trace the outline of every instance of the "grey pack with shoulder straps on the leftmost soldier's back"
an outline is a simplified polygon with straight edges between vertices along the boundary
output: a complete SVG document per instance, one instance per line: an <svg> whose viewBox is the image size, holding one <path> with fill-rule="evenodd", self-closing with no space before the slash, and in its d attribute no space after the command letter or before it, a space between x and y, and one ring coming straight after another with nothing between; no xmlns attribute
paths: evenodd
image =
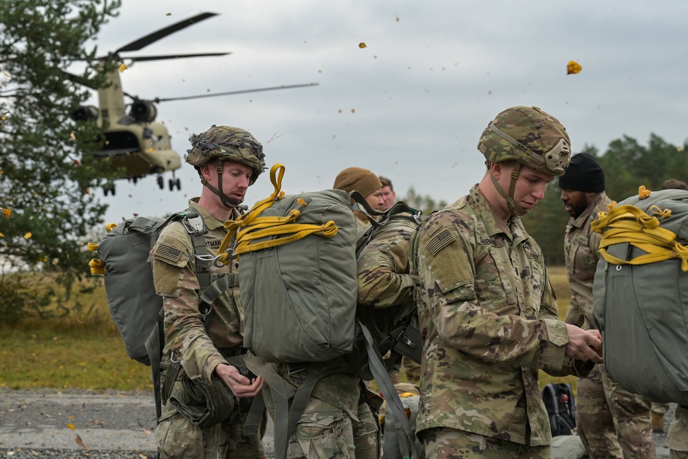
<svg viewBox="0 0 688 459"><path fill-rule="evenodd" d="M195 209L186 209L167 219L135 217L119 225L108 224L107 234L98 244L88 244L88 249L98 253L98 259L89 263L91 273L104 275L105 295L110 315L125 343L127 355L144 365L151 366L155 406L161 413L160 359L164 348L162 332L162 297L155 292L150 251L155 246L162 229L171 222L181 222L191 237L196 255L197 279L204 325L209 325L210 305L217 296L230 287L229 277L211 281L209 257L205 239L206 227Z"/></svg>

